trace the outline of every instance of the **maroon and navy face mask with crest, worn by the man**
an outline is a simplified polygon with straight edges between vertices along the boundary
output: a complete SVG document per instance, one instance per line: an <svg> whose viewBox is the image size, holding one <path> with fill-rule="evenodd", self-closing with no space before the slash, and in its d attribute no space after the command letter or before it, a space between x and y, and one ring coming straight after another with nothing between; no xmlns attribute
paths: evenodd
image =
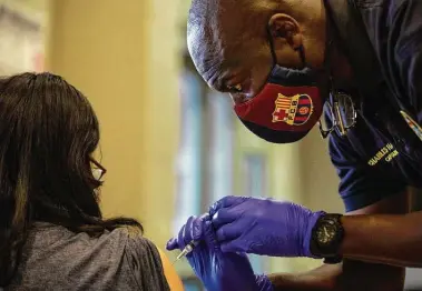
<svg viewBox="0 0 422 291"><path fill-rule="evenodd" d="M323 100L312 70L274 66L263 90L236 104L242 122L269 142L287 143L304 138L323 112Z"/></svg>

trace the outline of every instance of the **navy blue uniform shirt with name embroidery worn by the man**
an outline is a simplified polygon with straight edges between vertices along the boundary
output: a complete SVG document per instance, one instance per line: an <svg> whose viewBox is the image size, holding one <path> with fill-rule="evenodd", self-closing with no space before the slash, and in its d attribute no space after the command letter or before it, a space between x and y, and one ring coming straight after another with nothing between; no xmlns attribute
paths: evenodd
<svg viewBox="0 0 422 291"><path fill-rule="evenodd" d="M357 123L347 137L330 138L346 211L422 188L422 142L393 104L422 124L422 0L354 1L382 73L376 96L355 98Z"/></svg>

